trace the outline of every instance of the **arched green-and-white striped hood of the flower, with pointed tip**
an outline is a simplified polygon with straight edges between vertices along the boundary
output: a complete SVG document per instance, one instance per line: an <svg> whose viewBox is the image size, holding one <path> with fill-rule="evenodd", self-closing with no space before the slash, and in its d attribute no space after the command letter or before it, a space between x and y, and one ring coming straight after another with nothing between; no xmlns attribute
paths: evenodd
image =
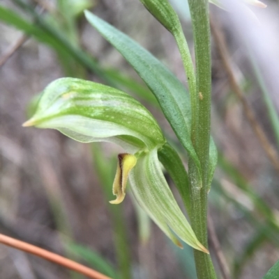
<svg viewBox="0 0 279 279"><path fill-rule="evenodd" d="M58 129L76 141L111 141L130 150L165 143L162 131L140 102L121 90L82 79L62 78L43 91L24 126Z"/></svg>

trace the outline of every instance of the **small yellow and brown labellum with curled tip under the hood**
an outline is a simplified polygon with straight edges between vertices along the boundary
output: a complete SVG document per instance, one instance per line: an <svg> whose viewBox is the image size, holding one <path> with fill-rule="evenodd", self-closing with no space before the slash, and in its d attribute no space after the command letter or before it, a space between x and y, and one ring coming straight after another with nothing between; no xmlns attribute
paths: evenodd
<svg viewBox="0 0 279 279"><path fill-rule="evenodd" d="M118 164L112 193L116 196L115 200L111 200L112 204L119 204L125 198L126 184L130 170L137 163L137 158L133 154L123 153L118 155Z"/></svg>

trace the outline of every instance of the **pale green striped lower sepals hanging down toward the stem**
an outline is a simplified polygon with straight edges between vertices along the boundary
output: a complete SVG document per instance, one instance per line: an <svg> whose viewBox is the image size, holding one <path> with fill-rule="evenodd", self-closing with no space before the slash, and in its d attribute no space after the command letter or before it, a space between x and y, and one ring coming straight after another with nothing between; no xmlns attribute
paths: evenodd
<svg viewBox="0 0 279 279"><path fill-rule="evenodd" d="M156 149L137 159L130 171L130 185L137 202L174 244L182 247L172 232L193 248L208 253L177 205L160 168Z"/></svg>

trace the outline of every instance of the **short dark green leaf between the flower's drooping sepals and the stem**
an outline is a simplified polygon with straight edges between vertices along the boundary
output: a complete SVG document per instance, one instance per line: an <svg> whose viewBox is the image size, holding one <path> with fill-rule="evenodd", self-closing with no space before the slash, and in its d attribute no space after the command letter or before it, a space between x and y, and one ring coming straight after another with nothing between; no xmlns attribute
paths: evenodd
<svg viewBox="0 0 279 279"><path fill-rule="evenodd" d="M174 181L174 184L176 185L184 202L188 216L190 216L191 204L188 174L183 166L179 154L177 154L171 145L166 143L162 148L160 148L160 150L158 150L158 158L169 175L172 177L172 180Z"/></svg>

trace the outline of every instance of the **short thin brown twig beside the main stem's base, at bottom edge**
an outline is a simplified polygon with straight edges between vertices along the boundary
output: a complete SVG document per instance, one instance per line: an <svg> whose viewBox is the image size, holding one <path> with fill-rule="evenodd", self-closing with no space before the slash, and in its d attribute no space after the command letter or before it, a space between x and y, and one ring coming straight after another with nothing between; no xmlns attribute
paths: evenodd
<svg viewBox="0 0 279 279"><path fill-rule="evenodd" d="M225 256L220 248L220 243L218 241L216 231L214 229L213 221L211 216L209 215L207 218L207 228L209 230L209 239L212 244L212 248L216 254L216 260L218 262L218 265L220 267L220 271L222 273L222 276L224 279L229 279L229 266L227 265L227 261L225 259Z"/></svg>

